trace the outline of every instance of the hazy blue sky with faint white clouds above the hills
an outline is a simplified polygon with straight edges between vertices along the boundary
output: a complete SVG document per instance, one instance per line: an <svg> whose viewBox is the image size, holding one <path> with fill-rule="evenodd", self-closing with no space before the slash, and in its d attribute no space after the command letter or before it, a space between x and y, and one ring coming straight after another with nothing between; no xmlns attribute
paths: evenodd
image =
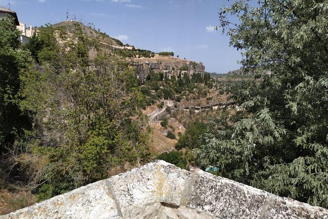
<svg viewBox="0 0 328 219"><path fill-rule="evenodd" d="M227 0L0 0L20 22L35 27L76 18L141 49L174 52L202 62L207 72L239 69L240 52L214 27Z"/></svg>

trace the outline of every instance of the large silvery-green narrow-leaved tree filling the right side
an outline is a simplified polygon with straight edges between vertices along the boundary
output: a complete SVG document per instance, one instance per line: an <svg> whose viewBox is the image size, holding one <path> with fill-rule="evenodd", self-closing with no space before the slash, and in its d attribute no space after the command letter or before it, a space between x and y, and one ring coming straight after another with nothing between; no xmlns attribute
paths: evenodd
<svg viewBox="0 0 328 219"><path fill-rule="evenodd" d="M327 1L295 0L238 0L221 10L220 27L253 81L230 93L243 110L210 126L199 164L328 207L327 13Z"/></svg>

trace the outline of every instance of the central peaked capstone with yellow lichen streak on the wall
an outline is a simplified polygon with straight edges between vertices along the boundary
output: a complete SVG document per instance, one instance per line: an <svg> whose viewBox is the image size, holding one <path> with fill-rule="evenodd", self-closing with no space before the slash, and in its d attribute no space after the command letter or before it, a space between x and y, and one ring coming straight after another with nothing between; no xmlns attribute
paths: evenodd
<svg viewBox="0 0 328 219"><path fill-rule="evenodd" d="M123 216L129 218L129 206L143 209L145 204L165 202L180 205L181 194L192 173L166 162L151 163L108 179Z"/></svg>

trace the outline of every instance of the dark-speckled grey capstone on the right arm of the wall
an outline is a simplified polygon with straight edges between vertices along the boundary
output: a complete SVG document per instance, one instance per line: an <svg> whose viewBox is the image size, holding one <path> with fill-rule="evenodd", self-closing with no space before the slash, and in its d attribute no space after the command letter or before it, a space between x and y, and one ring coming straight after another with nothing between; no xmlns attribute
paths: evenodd
<svg viewBox="0 0 328 219"><path fill-rule="evenodd" d="M326 219L328 210L199 171L195 174L190 208L227 219Z"/></svg>

